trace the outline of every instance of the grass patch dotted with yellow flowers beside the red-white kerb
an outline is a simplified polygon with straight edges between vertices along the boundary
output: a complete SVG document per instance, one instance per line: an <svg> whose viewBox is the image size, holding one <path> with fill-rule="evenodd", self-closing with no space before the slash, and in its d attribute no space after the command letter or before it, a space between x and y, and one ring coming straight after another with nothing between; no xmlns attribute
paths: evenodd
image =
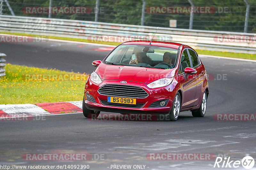
<svg viewBox="0 0 256 170"><path fill-rule="evenodd" d="M0 78L0 104L23 104L43 102L80 101L84 96L84 85L88 75L65 72L56 69L36 68L7 64L6 75ZM26 79L27 74L27 79ZM33 79L32 75L80 75L80 81L62 81ZM29 76L28 76L29 75ZM60 78L60 79L59 79ZM67 76L64 77L69 79ZM32 81L31 81L32 80ZM58 81L56 81L58 80ZM73 79L74 80L74 79Z"/></svg>

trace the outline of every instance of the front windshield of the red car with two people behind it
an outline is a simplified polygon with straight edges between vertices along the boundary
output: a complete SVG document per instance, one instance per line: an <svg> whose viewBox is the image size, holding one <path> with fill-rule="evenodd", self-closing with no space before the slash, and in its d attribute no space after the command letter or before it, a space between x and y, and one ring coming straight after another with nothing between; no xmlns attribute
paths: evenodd
<svg viewBox="0 0 256 170"><path fill-rule="evenodd" d="M149 45L120 45L105 60L106 64L132 67L174 68L178 50Z"/></svg>

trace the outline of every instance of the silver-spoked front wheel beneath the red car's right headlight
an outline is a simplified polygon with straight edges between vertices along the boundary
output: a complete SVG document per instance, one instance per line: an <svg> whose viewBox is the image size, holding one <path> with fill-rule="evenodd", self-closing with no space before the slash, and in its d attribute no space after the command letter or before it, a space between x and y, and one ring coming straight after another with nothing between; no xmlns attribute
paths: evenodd
<svg viewBox="0 0 256 170"><path fill-rule="evenodd" d="M181 99L180 99L180 93L176 93L173 102L172 102L172 109L167 116L168 120L170 121L176 121L180 114L180 105L181 105Z"/></svg>

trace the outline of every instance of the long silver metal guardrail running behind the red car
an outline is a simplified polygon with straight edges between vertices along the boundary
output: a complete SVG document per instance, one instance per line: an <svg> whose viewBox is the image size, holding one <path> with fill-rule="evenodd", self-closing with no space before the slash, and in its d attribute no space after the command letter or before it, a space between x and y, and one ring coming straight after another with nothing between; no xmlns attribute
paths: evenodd
<svg viewBox="0 0 256 170"><path fill-rule="evenodd" d="M153 36L156 27L92 21L0 15L0 31L88 39L89 36ZM227 36L229 41L216 41ZM160 27L154 39L186 44L195 49L256 54L256 34Z"/></svg>

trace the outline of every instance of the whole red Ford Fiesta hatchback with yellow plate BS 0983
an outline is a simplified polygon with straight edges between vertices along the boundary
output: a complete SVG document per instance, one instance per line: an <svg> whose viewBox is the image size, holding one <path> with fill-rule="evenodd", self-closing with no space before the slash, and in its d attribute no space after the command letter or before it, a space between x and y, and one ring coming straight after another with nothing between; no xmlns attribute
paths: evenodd
<svg viewBox="0 0 256 170"><path fill-rule="evenodd" d="M204 117L209 88L204 65L189 46L163 41L128 41L116 46L85 84L83 113L162 114L181 111Z"/></svg>

